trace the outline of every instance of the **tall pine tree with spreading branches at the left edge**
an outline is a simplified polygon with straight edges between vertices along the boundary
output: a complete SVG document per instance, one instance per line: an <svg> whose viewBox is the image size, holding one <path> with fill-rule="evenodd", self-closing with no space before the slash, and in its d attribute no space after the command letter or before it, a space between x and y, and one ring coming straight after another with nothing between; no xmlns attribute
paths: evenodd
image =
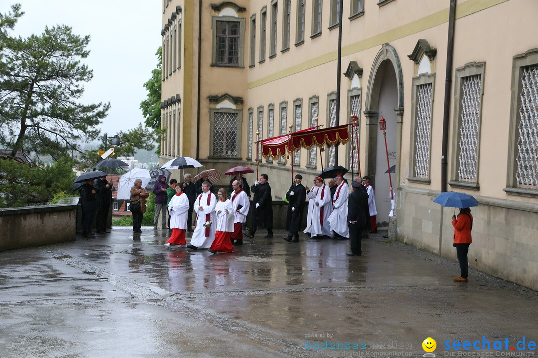
<svg viewBox="0 0 538 358"><path fill-rule="evenodd" d="M0 147L51 155L79 151L76 143L94 140L95 126L110 104L84 105L79 99L92 70L81 63L89 36L69 26L45 27L41 35L11 36L24 13L13 5L0 14Z"/></svg>

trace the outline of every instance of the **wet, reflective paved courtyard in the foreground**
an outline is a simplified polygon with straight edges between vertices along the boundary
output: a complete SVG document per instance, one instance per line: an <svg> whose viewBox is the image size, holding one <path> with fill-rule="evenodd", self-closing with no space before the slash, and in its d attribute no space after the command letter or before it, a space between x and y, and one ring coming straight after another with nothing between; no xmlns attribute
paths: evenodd
<svg viewBox="0 0 538 358"><path fill-rule="evenodd" d="M457 262L381 233L360 257L349 240L275 234L211 254L166 249L168 230L115 227L0 252L0 356L422 356L427 337L439 356L447 340L538 340L535 291L473 269L455 283Z"/></svg>

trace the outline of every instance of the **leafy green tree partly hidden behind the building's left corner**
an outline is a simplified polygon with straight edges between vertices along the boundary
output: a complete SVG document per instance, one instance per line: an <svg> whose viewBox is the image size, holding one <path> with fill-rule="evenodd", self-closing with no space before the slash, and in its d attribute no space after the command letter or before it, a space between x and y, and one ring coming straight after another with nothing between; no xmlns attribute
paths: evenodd
<svg viewBox="0 0 538 358"><path fill-rule="evenodd" d="M151 71L151 78L144 83L144 87L147 90L147 98L140 103L140 109L142 114L146 118L146 126L154 130L157 137L158 148L155 151L157 154L161 152L161 136L163 131L161 130L161 93L162 93L162 47L157 50L157 67Z"/></svg>

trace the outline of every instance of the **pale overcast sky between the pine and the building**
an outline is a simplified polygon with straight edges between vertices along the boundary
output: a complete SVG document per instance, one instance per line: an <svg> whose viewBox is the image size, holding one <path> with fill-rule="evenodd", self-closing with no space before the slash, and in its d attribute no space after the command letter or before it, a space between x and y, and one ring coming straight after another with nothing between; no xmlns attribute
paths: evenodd
<svg viewBox="0 0 538 358"><path fill-rule="evenodd" d="M1 0L0 12L20 3L24 16L15 34L41 34L45 26L68 25L77 35L90 35L85 60L94 78L84 86L83 103L110 102L101 132L114 135L144 122L140 101L143 84L157 65L161 46L162 2L159 0Z"/></svg>

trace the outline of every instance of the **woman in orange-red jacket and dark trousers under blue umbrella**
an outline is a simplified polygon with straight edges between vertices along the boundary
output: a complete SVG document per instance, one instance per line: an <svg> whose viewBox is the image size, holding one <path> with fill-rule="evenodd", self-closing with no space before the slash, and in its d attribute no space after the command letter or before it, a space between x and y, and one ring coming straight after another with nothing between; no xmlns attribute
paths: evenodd
<svg viewBox="0 0 538 358"><path fill-rule="evenodd" d="M456 246L456 252L458 255L459 268L461 269L461 276L456 277L456 282L467 282L467 273L469 267L469 261L467 259L467 253L469 252L469 245L471 245L471 230L472 230L472 215L471 209L463 208L459 209L459 214L452 216L452 226L454 227L454 246Z"/></svg>

